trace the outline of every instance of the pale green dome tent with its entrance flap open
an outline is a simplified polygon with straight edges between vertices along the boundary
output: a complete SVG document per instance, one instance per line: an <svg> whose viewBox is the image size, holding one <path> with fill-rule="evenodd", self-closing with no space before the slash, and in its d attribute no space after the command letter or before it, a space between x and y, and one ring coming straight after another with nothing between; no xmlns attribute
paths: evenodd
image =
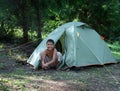
<svg viewBox="0 0 120 91"><path fill-rule="evenodd" d="M117 61L100 35L89 25L82 22L69 22L51 32L34 50L27 62L36 69L40 65L40 53L46 49L46 41L60 40L63 64L68 67L103 65Z"/></svg>

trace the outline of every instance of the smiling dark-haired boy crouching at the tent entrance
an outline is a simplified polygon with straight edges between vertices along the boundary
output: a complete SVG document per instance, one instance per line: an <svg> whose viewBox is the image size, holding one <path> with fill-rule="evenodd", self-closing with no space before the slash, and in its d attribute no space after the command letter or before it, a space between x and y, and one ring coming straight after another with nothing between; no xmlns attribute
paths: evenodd
<svg viewBox="0 0 120 91"><path fill-rule="evenodd" d="M43 69L58 68L62 61L62 55L54 47L54 40L48 39L47 49L41 53L41 64Z"/></svg>

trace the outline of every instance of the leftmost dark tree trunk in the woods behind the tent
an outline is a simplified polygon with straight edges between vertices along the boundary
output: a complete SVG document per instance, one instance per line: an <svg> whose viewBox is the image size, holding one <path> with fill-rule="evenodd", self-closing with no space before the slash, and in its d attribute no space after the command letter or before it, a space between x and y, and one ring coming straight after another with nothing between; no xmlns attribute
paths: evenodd
<svg viewBox="0 0 120 91"><path fill-rule="evenodd" d="M18 20L18 25L22 27L23 29L23 41L28 41L28 0L13 0L14 4L16 5L14 9L14 15Z"/></svg>

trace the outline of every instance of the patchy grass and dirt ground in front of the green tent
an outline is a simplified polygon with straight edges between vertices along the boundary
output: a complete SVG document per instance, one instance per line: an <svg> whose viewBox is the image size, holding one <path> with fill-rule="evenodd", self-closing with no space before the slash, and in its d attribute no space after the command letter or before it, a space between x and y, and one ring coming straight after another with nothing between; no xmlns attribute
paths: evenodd
<svg viewBox="0 0 120 91"><path fill-rule="evenodd" d="M0 53L0 91L120 91L120 63L71 71L37 70Z"/></svg>

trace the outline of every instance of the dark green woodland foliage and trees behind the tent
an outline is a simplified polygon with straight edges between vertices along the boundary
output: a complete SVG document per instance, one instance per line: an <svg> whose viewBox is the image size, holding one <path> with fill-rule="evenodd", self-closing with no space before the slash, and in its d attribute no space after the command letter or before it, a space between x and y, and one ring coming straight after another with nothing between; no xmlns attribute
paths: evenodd
<svg viewBox="0 0 120 91"><path fill-rule="evenodd" d="M119 0L1 0L0 41L41 40L71 21L85 22L107 40L120 41L119 16ZM19 29L22 36L17 39Z"/></svg>

